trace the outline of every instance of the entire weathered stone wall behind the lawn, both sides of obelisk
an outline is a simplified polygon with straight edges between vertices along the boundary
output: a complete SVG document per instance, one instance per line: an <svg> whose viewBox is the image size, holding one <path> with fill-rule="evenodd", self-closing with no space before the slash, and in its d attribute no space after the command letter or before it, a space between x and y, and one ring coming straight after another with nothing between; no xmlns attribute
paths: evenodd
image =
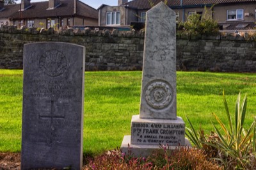
<svg viewBox="0 0 256 170"><path fill-rule="evenodd" d="M256 72L256 42L252 35L177 35L177 70ZM68 42L86 47L86 70L141 70L142 31L89 28L36 31L1 27L0 68L22 68L25 43Z"/></svg>

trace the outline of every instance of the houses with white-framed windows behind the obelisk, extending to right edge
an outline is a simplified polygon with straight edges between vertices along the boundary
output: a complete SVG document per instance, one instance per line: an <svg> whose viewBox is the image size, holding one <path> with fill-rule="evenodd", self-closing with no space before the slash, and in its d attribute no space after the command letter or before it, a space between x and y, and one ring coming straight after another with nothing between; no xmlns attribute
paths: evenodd
<svg viewBox="0 0 256 170"><path fill-rule="evenodd" d="M129 26L131 22L145 22L147 10L163 0L118 0L118 6L102 4L98 8L99 26ZM152 4L150 4L150 2ZM189 15L204 15L205 6L212 10L212 18L223 29L252 29L256 22L256 0L168 0L176 12L177 22L184 22Z"/></svg>

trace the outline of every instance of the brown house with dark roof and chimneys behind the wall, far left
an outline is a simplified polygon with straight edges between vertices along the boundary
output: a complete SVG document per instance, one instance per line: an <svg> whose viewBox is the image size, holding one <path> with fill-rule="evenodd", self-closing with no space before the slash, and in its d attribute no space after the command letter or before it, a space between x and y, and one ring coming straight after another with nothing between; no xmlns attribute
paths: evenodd
<svg viewBox="0 0 256 170"><path fill-rule="evenodd" d="M97 26L97 10L79 0L49 0L4 5L0 1L0 23L27 27Z"/></svg>

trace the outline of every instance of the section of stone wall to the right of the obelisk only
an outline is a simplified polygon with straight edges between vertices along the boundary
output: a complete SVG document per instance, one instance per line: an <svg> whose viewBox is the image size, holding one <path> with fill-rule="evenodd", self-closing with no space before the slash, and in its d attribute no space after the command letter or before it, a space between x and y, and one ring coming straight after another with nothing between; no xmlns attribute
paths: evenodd
<svg viewBox="0 0 256 170"><path fill-rule="evenodd" d="M247 40L246 40L247 38ZM177 70L256 72L256 42L239 35L177 40Z"/></svg>

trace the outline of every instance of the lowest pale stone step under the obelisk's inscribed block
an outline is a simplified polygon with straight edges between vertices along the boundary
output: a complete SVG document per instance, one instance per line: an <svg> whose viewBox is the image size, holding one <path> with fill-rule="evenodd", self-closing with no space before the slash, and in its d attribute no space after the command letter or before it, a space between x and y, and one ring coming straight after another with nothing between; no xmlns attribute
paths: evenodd
<svg viewBox="0 0 256 170"><path fill-rule="evenodd" d="M168 146L169 150L175 150L180 147L192 147L191 143L188 139L185 139L184 146ZM131 144L131 135L125 135L122 145L121 145L122 153L129 153L131 151L131 155L133 157L148 157L153 151L163 150L159 145L152 144ZM164 150L163 150L164 151Z"/></svg>

